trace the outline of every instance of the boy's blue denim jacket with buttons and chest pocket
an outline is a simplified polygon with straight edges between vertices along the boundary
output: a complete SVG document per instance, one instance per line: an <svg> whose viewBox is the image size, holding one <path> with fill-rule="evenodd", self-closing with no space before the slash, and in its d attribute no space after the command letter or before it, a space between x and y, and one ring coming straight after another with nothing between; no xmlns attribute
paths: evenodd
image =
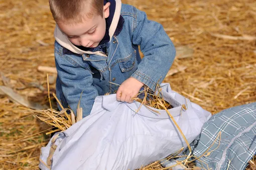
<svg viewBox="0 0 256 170"><path fill-rule="evenodd" d="M97 96L113 93L118 89L115 84L129 77L155 90L175 58L174 45L161 24L148 20L144 12L130 5L121 4L119 16L124 19L122 30L111 36L106 54L75 53L60 41L55 42L56 95L64 107L69 105L74 112L81 95L83 117L90 114Z"/></svg>

